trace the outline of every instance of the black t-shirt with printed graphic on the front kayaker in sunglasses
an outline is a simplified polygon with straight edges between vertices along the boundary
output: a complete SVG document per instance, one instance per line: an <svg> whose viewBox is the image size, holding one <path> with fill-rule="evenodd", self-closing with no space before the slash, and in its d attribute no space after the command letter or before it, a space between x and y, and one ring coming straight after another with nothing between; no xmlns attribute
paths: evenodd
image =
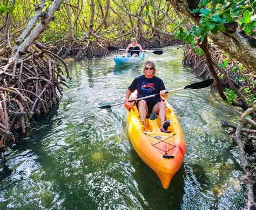
<svg viewBox="0 0 256 210"><path fill-rule="evenodd" d="M148 95L157 94L160 90L165 90L164 82L157 76L153 76L153 78L146 78L145 75L140 75L135 78L131 85L128 87L131 92L137 89L138 98L145 97ZM150 97L149 99L145 99L147 104L156 104L160 101L160 95L156 97Z"/></svg>

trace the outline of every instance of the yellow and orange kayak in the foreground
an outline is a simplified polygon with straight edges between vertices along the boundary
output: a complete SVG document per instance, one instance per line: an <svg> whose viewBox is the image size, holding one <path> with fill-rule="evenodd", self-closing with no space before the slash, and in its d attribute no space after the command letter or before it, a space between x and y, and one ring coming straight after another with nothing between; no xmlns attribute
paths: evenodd
<svg viewBox="0 0 256 210"><path fill-rule="evenodd" d="M136 95L132 93L130 99ZM136 106L127 111L127 131L133 148L139 157L156 172L165 189L170 185L174 174L183 163L186 150L184 133L170 104L166 103L166 119L171 120L167 132L160 131L160 119L155 120L147 116L146 126L150 131L144 131L140 122L139 112Z"/></svg>

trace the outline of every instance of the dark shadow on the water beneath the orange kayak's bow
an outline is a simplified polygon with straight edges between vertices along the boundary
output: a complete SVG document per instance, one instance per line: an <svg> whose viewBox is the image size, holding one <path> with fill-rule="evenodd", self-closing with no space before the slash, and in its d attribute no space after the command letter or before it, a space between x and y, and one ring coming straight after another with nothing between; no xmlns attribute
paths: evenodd
<svg viewBox="0 0 256 210"><path fill-rule="evenodd" d="M169 188L161 185L157 174L147 166L137 155L131 146L130 162L135 172L133 178L137 181L139 191L144 195L147 204L143 208L151 207L153 209L180 209L184 195L184 165L174 175Z"/></svg>

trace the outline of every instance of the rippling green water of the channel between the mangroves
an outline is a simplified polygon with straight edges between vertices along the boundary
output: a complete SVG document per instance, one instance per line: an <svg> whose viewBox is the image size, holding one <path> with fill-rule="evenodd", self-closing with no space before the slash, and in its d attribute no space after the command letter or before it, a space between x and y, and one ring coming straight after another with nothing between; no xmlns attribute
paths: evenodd
<svg viewBox="0 0 256 210"><path fill-rule="evenodd" d="M146 53L168 90L201 81L183 52ZM143 62L114 68L113 56L69 64L72 82L59 107L35 118L0 164L0 209L242 209L245 188L223 121L235 118L214 89L169 96L186 136L184 164L164 190L133 150L122 102ZM144 60L144 61L145 61Z"/></svg>

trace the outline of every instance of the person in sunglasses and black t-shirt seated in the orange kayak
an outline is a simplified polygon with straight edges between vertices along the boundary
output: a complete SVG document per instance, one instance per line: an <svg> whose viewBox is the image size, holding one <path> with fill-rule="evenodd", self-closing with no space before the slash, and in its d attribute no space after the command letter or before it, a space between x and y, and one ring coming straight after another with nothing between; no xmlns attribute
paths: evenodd
<svg viewBox="0 0 256 210"><path fill-rule="evenodd" d="M152 61L146 61L143 72L144 74L137 76L126 90L124 103L129 101L131 93L133 93L136 89L138 91L137 98L154 95L157 93L160 93L161 96L165 95L166 90L163 80L155 76L156 65L154 65ZM136 106L139 110L140 120L142 121L145 130L147 130L145 122L147 114L159 113L159 118L161 121L160 129L161 131L165 131L163 124L166 116L166 104L165 102L161 101L159 95L156 97L150 97L149 99L137 101Z"/></svg>

